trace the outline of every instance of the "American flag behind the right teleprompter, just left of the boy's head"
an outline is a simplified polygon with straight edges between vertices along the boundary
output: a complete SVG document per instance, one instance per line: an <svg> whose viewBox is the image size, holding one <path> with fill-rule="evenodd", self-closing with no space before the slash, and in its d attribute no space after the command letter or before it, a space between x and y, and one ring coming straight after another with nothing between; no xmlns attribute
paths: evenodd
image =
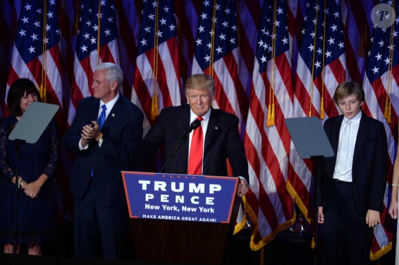
<svg viewBox="0 0 399 265"><path fill-rule="evenodd" d="M298 16L297 16L298 17ZM346 80L345 43L339 1L309 1L303 28L296 35L299 54L296 61L294 117L321 119L338 115L332 99L337 85ZM304 161L294 148L290 152L293 197L308 221L314 215L313 162Z"/></svg>

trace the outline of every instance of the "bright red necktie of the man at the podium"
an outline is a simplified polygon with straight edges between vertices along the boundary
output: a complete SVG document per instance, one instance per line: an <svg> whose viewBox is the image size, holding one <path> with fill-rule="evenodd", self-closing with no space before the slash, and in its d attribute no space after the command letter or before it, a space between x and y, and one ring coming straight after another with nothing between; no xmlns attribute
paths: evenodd
<svg viewBox="0 0 399 265"><path fill-rule="evenodd" d="M204 120L203 117L197 117L199 121ZM202 173L202 152L203 152L204 134L200 125L193 132L191 137L190 155L188 156L187 174L200 175Z"/></svg>

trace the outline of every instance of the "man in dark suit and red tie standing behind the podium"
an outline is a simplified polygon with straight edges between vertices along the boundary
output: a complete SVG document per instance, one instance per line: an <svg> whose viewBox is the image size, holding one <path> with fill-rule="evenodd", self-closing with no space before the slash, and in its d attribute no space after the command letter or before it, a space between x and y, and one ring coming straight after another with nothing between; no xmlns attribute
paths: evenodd
<svg viewBox="0 0 399 265"><path fill-rule="evenodd" d="M212 108L215 98L215 86L211 76L196 74L186 80L185 94L188 104L162 109L158 121L149 130L140 148L143 165L151 161L155 152L164 144L164 163L171 157L176 146L182 141L182 146L175 156L164 165L163 172L173 174L204 174L209 176L228 176L227 161L233 170L233 176L239 176L237 195L242 196L248 191L248 161L244 144L238 133L239 119L219 109ZM182 135L197 118L201 117L200 126L188 134ZM189 154L198 152L191 150L193 134L196 130L203 131L202 163L199 171L190 172Z"/></svg>

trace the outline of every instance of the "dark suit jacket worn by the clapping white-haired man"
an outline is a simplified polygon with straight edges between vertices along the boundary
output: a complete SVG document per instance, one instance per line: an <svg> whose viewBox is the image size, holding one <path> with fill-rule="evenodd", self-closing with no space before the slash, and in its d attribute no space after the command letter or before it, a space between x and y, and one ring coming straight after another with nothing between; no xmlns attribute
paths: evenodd
<svg viewBox="0 0 399 265"><path fill-rule="evenodd" d="M97 120L99 108L100 100L94 97L80 100L74 122L63 137L67 150L76 153L70 191L80 200L91 182L90 188L98 194L94 199L99 205L126 203L120 171L133 169L133 152L142 139L143 115L136 105L120 95L101 129L101 147L92 140L89 148L79 150L82 128Z"/></svg>

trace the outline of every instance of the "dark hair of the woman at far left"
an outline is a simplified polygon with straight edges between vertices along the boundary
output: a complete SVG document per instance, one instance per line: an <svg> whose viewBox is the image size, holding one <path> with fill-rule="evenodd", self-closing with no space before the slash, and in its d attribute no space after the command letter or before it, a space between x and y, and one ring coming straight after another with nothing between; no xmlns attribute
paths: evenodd
<svg viewBox="0 0 399 265"><path fill-rule="evenodd" d="M21 111L21 98L23 95L36 94L38 101L41 101L39 91L37 91L34 82L28 78L19 78L15 80L7 94L7 106L10 115L22 115Z"/></svg>

